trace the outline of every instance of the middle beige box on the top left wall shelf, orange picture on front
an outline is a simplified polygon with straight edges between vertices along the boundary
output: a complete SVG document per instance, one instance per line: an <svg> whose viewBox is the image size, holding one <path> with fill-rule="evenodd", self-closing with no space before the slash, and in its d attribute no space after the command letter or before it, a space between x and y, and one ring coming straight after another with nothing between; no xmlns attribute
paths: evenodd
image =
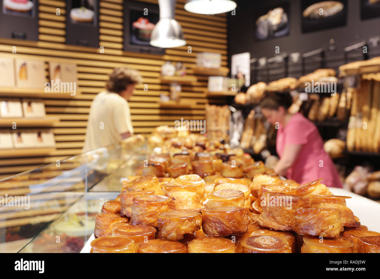
<svg viewBox="0 0 380 279"><path fill-rule="evenodd" d="M40 60L15 59L16 86L44 88L45 63Z"/></svg>

